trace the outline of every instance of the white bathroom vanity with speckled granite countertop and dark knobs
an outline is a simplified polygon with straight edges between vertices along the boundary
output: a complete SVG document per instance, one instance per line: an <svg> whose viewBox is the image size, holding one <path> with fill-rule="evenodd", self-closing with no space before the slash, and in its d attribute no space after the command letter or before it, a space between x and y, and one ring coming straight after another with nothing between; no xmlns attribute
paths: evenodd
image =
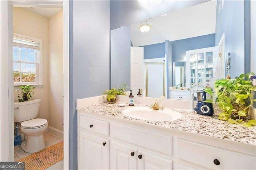
<svg viewBox="0 0 256 170"><path fill-rule="evenodd" d="M256 169L255 127L184 109L171 109L175 121L134 119L101 98L77 103L78 169Z"/></svg>

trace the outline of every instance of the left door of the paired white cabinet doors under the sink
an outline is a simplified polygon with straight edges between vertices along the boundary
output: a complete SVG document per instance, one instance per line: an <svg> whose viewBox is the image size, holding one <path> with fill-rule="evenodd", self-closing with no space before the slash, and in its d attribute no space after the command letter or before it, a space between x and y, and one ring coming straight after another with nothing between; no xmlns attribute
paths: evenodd
<svg viewBox="0 0 256 170"><path fill-rule="evenodd" d="M135 170L137 169L137 158L137 149L111 140L110 169Z"/></svg>

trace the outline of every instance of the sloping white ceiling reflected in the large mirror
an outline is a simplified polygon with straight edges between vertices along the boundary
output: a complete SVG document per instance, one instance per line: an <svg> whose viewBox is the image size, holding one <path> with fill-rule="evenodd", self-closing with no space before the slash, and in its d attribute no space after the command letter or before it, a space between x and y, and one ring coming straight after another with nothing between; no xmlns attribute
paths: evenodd
<svg viewBox="0 0 256 170"><path fill-rule="evenodd" d="M217 1L171 12L148 20L149 32L140 32L140 22L131 25L132 44L136 47L165 40L182 40L215 33Z"/></svg>

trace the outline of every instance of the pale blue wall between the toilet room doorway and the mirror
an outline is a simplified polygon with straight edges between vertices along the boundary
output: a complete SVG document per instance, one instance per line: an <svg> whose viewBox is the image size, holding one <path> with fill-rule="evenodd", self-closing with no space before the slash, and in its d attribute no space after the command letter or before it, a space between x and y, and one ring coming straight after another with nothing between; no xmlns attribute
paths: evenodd
<svg viewBox="0 0 256 170"><path fill-rule="evenodd" d="M77 169L76 99L102 95L109 88L110 2L70 1L69 169Z"/></svg>

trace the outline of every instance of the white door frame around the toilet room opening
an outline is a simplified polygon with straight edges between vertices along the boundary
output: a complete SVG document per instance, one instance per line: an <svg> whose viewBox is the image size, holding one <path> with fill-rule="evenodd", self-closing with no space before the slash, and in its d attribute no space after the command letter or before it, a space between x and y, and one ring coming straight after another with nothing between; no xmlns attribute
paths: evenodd
<svg viewBox="0 0 256 170"><path fill-rule="evenodd" d="M68 0L0 1L0 161L14 161L13 7L63 8L64 169L69 168L69 4ZM8 50L6 50L8 49ZM8 74L6 74L8 73ZM6 83L8 82L8 83ZM6 97L8 96L8 100ZM8 113L8 114L6 114ZM4 127L4 128L3 128ZM8 130L6 130L8 128ZM4 153L4 154L3 154Z"/></svg>

